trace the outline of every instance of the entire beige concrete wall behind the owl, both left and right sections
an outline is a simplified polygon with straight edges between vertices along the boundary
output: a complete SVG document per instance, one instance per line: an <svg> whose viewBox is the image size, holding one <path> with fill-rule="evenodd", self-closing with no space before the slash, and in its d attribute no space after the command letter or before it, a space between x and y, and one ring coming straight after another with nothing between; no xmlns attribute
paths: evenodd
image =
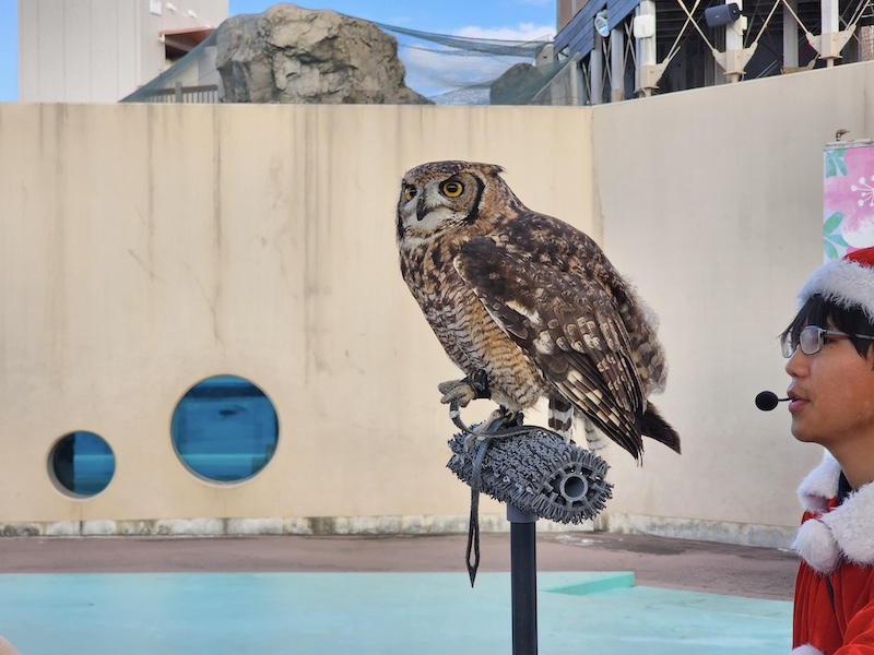
<svg viewBox="0 0 874 655"><path fill-rule="evenodd" d="M788 383L776 336L822 259L823 146L871 135L872 66L594 109L1 105L0 526L463 527L435 391L454 370L392 224L406 168L461 157L603 240L661 317L657 404L684 454L609 449L603 525L784 544L819 452L753 397ZM170 444L176 402L217 373L280 415L273 462L239 485L192 477ZM117 457L84 501L46 472L80 429Z"/></svg>

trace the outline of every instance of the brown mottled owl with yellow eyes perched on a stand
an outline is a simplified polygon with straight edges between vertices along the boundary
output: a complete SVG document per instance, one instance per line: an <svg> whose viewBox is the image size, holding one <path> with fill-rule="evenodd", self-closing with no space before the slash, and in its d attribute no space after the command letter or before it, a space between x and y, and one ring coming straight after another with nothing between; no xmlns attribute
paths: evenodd
<svg viewBox="0 0 874 655"><path fill-rule="evenodd" d="M481 389L517 413L548 398L548 426L569 440L591 424L639 462L642 437L680 452L648 397L666 362L658 321L598 245L525 207L500 166L434 162L401 184L401 274L465 377L439 385L465 406Z"/></svg>

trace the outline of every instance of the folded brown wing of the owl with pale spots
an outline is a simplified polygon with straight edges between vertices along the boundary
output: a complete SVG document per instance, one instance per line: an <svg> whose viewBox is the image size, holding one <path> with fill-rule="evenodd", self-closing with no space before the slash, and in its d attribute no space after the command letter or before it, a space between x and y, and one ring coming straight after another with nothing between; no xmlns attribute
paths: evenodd
<svg viewBox="0 0 874 655"><path fill-rule="evenodd" d="M515 240L513 240L515 241ZM541 243L542 246L542 243ZM480 237L453 260L489 315L543 377L607 437L638 456L640 380L611 295L595 279L553 265L519 241Z"/></svg>

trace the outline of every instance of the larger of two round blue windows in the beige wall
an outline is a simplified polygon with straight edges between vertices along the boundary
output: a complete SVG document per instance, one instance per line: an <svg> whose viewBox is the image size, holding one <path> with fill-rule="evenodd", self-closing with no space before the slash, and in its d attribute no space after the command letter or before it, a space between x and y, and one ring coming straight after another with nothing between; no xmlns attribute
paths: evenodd
<svg viewBox="0 0 874 655"><path fill-rule="evenodd" d="M234 376L209 378L188 390L173 413L173 445L192 473L221 483L260 472L276 450L273 403Z"/></svg>

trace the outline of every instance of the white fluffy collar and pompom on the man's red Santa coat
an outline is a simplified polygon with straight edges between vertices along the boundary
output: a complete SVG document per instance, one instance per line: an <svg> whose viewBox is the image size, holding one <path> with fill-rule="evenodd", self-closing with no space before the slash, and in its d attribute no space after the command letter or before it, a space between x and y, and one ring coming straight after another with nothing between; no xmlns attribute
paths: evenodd
<svg viewBox="0 0 874 655"><path fill-rule="evenodd" d="M822 512L838 493L840 466L828 453L799 488L801 504ZM831 573L841 557L850 562L874 564L874 483L850 493L839 507L799 528L792 547L819 573Z"/></svg>

